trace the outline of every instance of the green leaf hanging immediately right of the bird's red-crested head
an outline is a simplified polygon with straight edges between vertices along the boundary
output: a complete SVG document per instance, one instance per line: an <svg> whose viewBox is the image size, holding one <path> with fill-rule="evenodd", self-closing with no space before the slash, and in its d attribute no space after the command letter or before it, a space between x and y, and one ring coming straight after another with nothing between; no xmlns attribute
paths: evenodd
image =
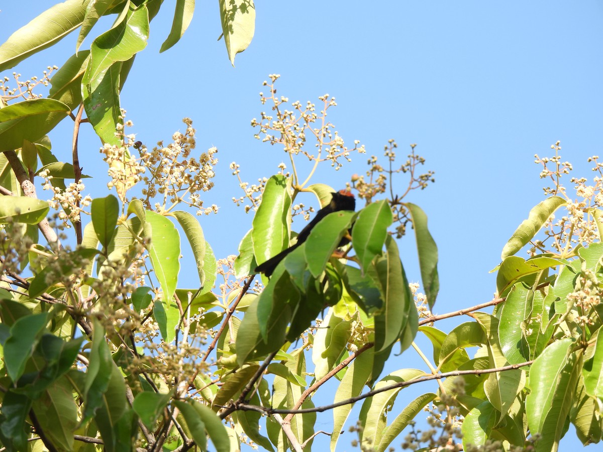
<svg viewBox="0 0 603 452"><path fill-rule="evenodd" d="M367 268L373 257L381 254L392 221L390 205L385 199L373 202L359 212L352 229L352 243L360 268Z"/></svg>

